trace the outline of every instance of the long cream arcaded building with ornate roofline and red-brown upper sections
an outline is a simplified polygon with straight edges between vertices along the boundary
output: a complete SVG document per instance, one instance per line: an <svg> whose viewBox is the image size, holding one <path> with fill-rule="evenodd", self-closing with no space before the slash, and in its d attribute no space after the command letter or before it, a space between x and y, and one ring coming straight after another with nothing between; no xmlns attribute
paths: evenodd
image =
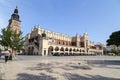
<svg viewBox="0 0 120 80"><path fill-rule="evenodd" d="M45 30L35 26L25 39L26 55L88 55L103 54L103 47L88 40L88 33L82 36Z"/></svg>

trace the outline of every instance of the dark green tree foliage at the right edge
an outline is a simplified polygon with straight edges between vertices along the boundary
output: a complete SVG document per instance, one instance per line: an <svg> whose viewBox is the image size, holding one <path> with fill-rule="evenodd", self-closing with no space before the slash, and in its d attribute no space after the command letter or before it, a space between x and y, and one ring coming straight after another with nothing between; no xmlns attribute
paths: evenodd
<svg viewBox="0 0 120 80"><path fill-rule="evenodd" d="M108 46L109 45L116 45L117 47L120 46L120 31L113 32L106 42Z"/></svg>

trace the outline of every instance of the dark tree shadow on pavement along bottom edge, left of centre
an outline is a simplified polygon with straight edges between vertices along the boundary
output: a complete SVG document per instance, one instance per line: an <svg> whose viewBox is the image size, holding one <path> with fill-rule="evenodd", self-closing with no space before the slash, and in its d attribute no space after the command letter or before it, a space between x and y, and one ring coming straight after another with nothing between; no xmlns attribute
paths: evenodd
<svg viewBox="0 0 120 80"><path fill-rule="evenodd" d="M42 73L40 75L20 73L17 76L17 80L56 80L56 78Z"/></svg>

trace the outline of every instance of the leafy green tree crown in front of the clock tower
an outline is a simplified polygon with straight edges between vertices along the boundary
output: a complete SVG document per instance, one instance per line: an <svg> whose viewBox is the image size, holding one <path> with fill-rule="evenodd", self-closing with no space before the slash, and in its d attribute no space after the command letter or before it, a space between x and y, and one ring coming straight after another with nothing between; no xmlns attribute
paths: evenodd
<svg viewBox="0 0 120 80"><path fill-rule="evenodd" d="M17 33L8 28L2 29L0 44L5 47L10 47L13 50L22 50L24 46L24 38L22 32Z"/></svg>

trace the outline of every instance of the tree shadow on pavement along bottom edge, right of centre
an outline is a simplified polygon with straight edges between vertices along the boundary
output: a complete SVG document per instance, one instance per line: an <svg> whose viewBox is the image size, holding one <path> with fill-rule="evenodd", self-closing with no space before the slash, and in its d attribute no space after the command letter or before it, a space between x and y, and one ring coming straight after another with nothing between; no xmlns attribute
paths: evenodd
<svg viewBox="0 0 120 80"><path fill-rule="evenodd" d="M101 75L92 76L88 74L81 76L78 74L65 73L63 76L66 77L67 80L120 80L117 78L104 77Z"/></svg>

